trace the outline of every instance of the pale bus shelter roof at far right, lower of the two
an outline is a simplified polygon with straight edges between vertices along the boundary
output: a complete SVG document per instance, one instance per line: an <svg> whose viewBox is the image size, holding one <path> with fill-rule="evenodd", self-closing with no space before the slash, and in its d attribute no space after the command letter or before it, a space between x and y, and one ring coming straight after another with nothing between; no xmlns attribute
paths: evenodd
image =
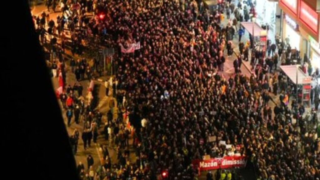
<svg viewBox="0 0 320 180"><path fill-rule="evenodd" d="M280 69L291 79L291 81L297 83L297 72L298 72L298 84L310 84L306 82L309 76L307 76L300 68L299 65L286 65L280 66Z"/></svg>

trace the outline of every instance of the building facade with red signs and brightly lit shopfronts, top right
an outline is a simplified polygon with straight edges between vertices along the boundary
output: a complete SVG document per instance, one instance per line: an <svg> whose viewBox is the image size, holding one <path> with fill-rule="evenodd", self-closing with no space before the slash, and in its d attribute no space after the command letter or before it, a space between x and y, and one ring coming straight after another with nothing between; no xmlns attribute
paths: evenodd
<svg viewBox="0 0 320 180"><path fill-rule="evenodd" d="M320 68L319 0L279 0L282 9L282 39L289 37L292 48L306 53L314 68Z"/></svg>

